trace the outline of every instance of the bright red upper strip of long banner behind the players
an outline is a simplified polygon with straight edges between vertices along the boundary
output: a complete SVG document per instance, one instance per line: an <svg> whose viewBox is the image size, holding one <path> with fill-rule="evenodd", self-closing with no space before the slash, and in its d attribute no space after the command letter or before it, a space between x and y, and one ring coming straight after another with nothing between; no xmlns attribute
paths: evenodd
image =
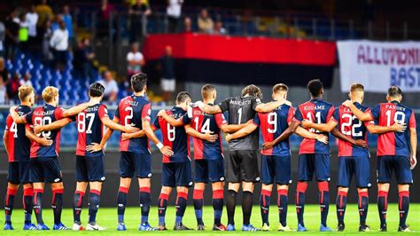
<svg viewBox="0 0 420 236"><path fill-rule="evenodd" d="M159 59L167 45L172 46L175 59L313 66L336 62L336 44L332 42L199 34L149 35L144 57Z"/></svg>

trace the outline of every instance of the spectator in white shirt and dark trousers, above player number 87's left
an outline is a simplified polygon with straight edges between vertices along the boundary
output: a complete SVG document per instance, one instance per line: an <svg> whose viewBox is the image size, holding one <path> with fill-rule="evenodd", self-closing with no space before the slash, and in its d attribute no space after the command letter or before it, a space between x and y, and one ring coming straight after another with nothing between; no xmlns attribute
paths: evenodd
<svg viewBox="0 0 420 236"><path fill-rule="evenodd" d="M63 71L67 62L68 31L64 21L61 20L58 25L59 28L52 33L50 45L53 50L54 61L56 62L55 67Z"/></svg>

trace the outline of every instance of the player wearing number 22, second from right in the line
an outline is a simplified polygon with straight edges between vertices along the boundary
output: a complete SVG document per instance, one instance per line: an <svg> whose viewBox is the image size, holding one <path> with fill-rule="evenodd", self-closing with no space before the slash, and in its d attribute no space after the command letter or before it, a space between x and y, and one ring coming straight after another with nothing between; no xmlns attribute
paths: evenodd
<svg viewBox="0 0 420 236"><path fill-rule="evenodd" d="M352 99L354 106L362 111L368 108L362 106L364 97L364 87L360 83L354 83L350 87L349 98ZM404 131L405 127L395 123L391 127L382 127L372 124L371 122L361 122L357 120L350 108L347 106L338 106L334 111L334 120L324 123L302 122L306 128L315 130L330 131L334 127L338 127L339 131L349 138L356 140L366 140L367 131L372 134L385 133L394 130ZM338 139L338 195L336 200L337 218L339 232L344 231L344 216L346 213L346 198L348 187L352 177L355 177L357 192L359 194L358 207L360 216L359 232L369 232L369 226L366 224L368 216L370 187L369 177L369 149L367 146L355 146L343 139Z"/></svg>

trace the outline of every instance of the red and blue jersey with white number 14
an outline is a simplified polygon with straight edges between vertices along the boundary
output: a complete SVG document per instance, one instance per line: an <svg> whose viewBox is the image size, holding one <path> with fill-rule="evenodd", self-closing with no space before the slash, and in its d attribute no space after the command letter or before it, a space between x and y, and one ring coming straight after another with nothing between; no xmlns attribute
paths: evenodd
<svg viewBox="0 0 420 236"><path fill-rule="evenodd" d="M201 138L192 137L192 144L194 146L194 159L223 159L221 127L226 124L223 114L206 114L198 107L189 108L188 117L191 119L191 126L194 130L200 133L217 134L219 140L215 142L208 142Z"/></svg>

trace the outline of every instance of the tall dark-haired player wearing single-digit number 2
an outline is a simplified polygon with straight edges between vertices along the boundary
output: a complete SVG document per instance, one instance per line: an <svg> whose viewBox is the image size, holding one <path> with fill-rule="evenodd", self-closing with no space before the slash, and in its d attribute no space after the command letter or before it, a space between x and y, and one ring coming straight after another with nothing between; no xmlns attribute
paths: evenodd
<svg viewBox="0 0 420 236"><path fill-rule="evenodd" d="M147 90L147 75L138 73L131 76L131 89L134 93L126 98L122 98L118 105L113 122L119 122L124 126L134 126L141 130L135 138L120 138L120 188L117 195L118 204L118 231L125 231L124 213L127 205L127 193L131 185L131 178L136 177L139 185L139 201L142 210L140 231L154 231L149 222L149 211L151 207L151 152L149 139L159 148L161 153L172 153L168 146L163 146L156 138L151 127L151 102L144 98ZM108 130L102 139L103 147L113 134L113 130Z"/></svg>

